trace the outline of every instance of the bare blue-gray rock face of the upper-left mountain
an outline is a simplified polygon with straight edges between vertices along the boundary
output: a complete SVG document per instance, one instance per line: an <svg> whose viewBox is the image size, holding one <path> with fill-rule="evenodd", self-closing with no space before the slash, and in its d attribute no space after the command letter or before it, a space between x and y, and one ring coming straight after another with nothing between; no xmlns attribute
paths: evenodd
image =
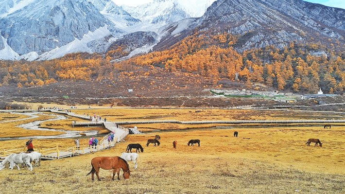
<svg viewBox="0 0 345 194"><path fill-rule="evenodd" d="M0 19L1 35L18 54L35 51L39 54L63 46L88 31L95 31L107 19L88 1L55 1L51 6L44 0L35 1ZM37 10L39 8L39 10ZM28 11L32 10L32 11Z"/></svg>

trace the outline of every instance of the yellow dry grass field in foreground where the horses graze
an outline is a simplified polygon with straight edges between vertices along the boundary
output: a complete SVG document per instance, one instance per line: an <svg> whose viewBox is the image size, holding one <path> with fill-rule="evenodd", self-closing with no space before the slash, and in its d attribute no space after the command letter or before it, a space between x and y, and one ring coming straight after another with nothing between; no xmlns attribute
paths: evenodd
<svg viewBox="0 0 345 194"><path fill-rule="evenodd" d="M101 111L104 113L96 114L105 116L107 120L111 120L110 114L123 115L123 119L129 116L139 118L141 114L132 112L133 114L125 115L119 111ZM214 113L214 118L216 114ZM249 114L255 117L253 112ZM142 115L141 117L145 117L145 114ZM192 112L190 115L193 115ZM151 114L146 113L146 116ZM307 116L291 115L295 118ZM328 116L338 117L324 114L324 117ZM190 116L187 111L180 117L188 119ZM198 115L193 119L197 117ZM314 114L313 117L322 117L322 114ZM173 120L180 119L176 117ZM345 193L345 126L332 125L331 129L324 129L322 126L232 127L233 129L159 131L128 135L126 142L120 142L109 150L66 159L45 160L40 167L34 167L32 172L27 169L11 171L6 167L0 171L0 193ZM233 137L235 130L239 132L238 138ZM160 146L150 144L146 147L147 140L154 138L156 134L161 137ZM320 139L323 146L314 147L314 143L307 146L309 138ZM200 139L201 146L187 146L190 139ZM177 141L177 149L173 149L174 140ZM66 146L73 145L70 139L53 142L35 140L37 143L41 142L42 146L58 141L63 141ZM13 143L16 141L3 141L0 148L3 149L4 144ZM129 162L133 170L129 180L124 180L121 176L120 181L112 181L112 172L102 169L101 181L91 181L91 176L86 176L91 170L92 158L121 156L129 143L140 143L144 147L144 152L139 154L138 169L133 169L134 164Z"/></svg>

